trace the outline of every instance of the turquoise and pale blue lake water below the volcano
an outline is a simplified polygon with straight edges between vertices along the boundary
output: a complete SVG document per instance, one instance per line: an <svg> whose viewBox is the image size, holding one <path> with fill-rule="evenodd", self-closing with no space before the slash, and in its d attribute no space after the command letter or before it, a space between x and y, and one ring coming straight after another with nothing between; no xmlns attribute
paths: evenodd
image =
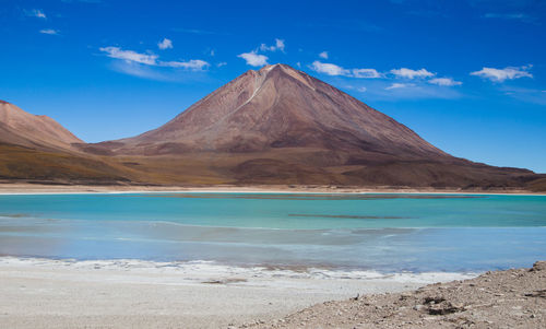
<svg viewBox="0 0 546 329"><path fill-rule="evenodd" d="M0 255L475 272L546 259L545 196L0 196Z"/></svg>

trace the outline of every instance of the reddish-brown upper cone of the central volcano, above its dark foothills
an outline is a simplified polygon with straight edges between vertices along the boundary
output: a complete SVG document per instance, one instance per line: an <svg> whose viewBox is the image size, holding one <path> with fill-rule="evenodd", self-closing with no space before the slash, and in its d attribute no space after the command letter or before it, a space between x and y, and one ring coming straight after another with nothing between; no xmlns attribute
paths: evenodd
<svg viewBox="0 0 546 329"><path fill-rule="evenodd" d="M446 156L394 119L285 64L247 71L166 125L118 142L116 153L149 155L313 148Z"/></svg>

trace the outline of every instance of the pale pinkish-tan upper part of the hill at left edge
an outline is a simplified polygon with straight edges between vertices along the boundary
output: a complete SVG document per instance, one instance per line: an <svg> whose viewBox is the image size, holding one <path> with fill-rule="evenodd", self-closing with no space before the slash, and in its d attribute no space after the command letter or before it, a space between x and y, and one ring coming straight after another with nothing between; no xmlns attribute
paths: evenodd
<svg viewBox="0 0 546 329"><path fill-rule="evenodd" d="M32 115L4 101L0 101L0 142L54 150L83 143L50 117Z"/></svg>

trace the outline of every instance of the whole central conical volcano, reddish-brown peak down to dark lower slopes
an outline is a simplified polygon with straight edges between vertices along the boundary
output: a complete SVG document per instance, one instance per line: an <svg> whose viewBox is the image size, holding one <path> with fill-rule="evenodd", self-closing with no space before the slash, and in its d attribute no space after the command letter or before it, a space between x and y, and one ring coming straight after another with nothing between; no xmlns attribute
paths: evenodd
<svg viewBox="0 0 546 329"><path fill-rule="evenodd" d="M451 156L286 64L249 70L157 129L85 151L222 184L506 187L533 175Z"/></svg>

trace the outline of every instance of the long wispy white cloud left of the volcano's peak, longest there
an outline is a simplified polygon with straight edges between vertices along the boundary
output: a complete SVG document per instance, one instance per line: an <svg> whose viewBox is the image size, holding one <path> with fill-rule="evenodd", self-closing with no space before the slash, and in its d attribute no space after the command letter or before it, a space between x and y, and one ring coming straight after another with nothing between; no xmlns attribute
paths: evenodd
<svg viewBox="0 0 546 329"><path fill-rule="evenodd" d="M123 50L119 47L103 47L99 48L99 50L106 52L107 56L111 58L153 67L181 68L199 71L210 66L209 62L201 59L191 59L189 61L159 61L157 60L157 55L139 54L133 50Z"/></svg>

